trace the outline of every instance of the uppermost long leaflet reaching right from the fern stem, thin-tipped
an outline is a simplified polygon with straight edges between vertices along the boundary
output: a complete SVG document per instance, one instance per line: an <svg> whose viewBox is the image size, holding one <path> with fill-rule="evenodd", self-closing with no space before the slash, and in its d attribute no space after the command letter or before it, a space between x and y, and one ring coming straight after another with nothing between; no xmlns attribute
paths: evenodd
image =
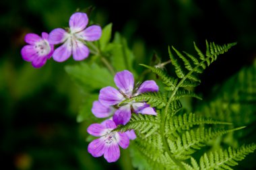
<svg viewBox="0 0 256 170"><path fill-rule="evenodd" d="M199 124L230 124L228 122L221 122L213 120L212 118L204 118L203 116L197 116L197 114L183 114L179 116L172 116L166 121L166 135L177 135L177 132L183 130L189 130L195 125Z"/></svg>

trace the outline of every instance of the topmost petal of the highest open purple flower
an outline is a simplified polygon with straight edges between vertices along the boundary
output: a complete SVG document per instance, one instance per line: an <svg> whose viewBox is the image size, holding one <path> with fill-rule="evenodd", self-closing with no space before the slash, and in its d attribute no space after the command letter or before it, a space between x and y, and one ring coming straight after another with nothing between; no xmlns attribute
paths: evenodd
<svg viewBox="0 0 256 170"><path fill-rule="evenodd" d="M69 19L69 27L72 33L80 32L86 28L88 17L86 13L76 12Z"/></svg>

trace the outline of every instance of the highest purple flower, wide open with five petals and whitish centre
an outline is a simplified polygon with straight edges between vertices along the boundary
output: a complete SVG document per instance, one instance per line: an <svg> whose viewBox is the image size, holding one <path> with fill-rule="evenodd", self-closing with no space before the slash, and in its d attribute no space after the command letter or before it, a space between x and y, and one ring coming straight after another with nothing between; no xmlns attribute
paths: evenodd
<svg viewBox="0 0 256 170"><path fill-rule="evenodd" d="M84 40L95 41L100 39L102 30L100 26L90 26L86 13L73 13L69 19L69 32L56 28L49 35L52 44L64 43L53 52L53 59L63 62L73 55L74 60L84 60L89 55L89 48L84 45ZM86 29L85 29L86 28Z"/></svg>

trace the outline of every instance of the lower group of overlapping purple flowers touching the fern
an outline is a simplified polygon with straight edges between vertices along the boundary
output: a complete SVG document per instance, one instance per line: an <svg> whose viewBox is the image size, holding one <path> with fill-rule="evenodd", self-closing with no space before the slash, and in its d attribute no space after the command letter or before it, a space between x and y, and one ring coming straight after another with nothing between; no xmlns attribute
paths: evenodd
<svg viewBox="0 0 256 170"><path fill-rule="evenodd" d="M102 88L98 101L94 101L92 106L94 116L108 118L108 120L101 124L92 124L87 130L93 136L100 136L89 144L88 152L93 157L104 155L108 162L117 161L120 157L119 146L127 148L129 140L136 138L134 130L113 132L119 124L127 124L131 113L156 115L154 108L151 108L146 102L133 101L132 97L140 93L158 91L155 81L144 81L139 87L134 88L133 74L126 70L117 73L114 81L119 89L110 86ZM126 99L129 99L129 102L122 103Z"/></svg>

